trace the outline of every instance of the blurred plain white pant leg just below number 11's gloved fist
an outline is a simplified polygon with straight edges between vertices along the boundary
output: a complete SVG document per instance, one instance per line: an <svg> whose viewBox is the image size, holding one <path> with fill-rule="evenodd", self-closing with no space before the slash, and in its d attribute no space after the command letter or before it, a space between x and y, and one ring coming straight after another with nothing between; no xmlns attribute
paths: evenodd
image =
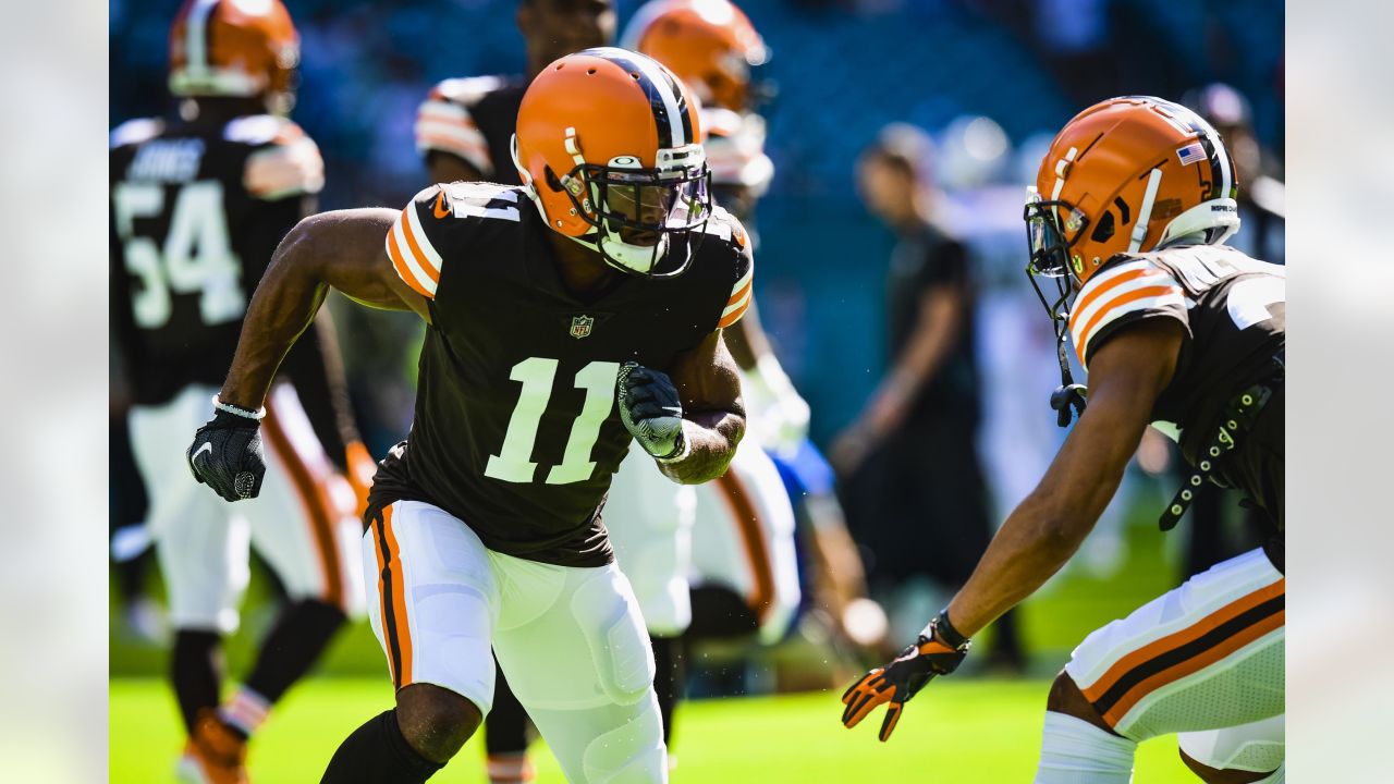
<svg viewBox="0 0 1394 784"><path fill-rule="evenodd" d="M631 441L611 481L605 529L634 587L644 625L657 638L677 636L691 625L687 572L696 515L696 490L664 476L648 452Z"/></svg>

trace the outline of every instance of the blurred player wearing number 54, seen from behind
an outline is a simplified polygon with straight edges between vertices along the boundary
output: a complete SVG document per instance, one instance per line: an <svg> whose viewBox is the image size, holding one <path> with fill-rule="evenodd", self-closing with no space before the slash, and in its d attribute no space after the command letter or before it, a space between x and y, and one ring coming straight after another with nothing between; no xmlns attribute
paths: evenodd
<svg viewBox="0 0 1394 784"><path fill-rule="evenodd" d="M362 603L353 552L361 527L343 473L361 445L332 324L314 322L282 368L294 385L270 391L270 466L259 499L219 504L180 458L188 430L215 413L213 393L272 251L314 211L323 184L315 142L284 117L298 56L279 1L190 0L170 31L177 116L112 131L116 372L131 396L131 445L169 591L185 781L247 780L248 737ZM238 625L248 544L290 601L243 686L219 707L219 642Z"/></svg>

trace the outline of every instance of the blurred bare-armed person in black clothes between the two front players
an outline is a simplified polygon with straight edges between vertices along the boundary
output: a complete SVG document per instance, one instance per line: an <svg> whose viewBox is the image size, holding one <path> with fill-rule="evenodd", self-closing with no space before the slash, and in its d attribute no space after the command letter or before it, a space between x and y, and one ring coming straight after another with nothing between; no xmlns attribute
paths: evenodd
<svg viewBox="0 0 1394 784"><path fill-rule="evenodd" d="M967 250L934 219L931 155L923 131L898 123L857 162L863 199L898 237L887 280L892 360L832 446L852 530L875 555L873 586L895 597L894 629L923 604L917 582L962 586L991 538L972 271ZM1015 615L995 632L993 663L1020 670Z"/></svg>

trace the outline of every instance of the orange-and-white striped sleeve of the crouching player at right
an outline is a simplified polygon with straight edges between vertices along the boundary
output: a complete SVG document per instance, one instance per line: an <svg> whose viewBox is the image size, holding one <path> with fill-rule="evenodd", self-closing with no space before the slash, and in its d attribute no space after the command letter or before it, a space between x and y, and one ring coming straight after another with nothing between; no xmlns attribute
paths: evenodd
<svg viewBox="0 0 1394 784"><path fill-rule="evenodd" d="M1128 324L1174 318L1190 332L1186 292L1177 279L1147 259L1131 259L1096 272L1075 299L1069 336L1086 368L1089 357Z"/></svg>

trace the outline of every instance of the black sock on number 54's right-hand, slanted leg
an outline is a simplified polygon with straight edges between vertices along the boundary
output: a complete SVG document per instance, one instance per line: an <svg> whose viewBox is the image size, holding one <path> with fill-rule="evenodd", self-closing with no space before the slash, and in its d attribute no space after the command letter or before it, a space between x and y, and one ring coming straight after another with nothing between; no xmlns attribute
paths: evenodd
<svg viewBox="0 0 1394 784"><path fill-rule="evenodd" d="M262 640L247 688L275 703L314 665L344 622L342 610L315 598L297 601L276 618Z"/></svg>

